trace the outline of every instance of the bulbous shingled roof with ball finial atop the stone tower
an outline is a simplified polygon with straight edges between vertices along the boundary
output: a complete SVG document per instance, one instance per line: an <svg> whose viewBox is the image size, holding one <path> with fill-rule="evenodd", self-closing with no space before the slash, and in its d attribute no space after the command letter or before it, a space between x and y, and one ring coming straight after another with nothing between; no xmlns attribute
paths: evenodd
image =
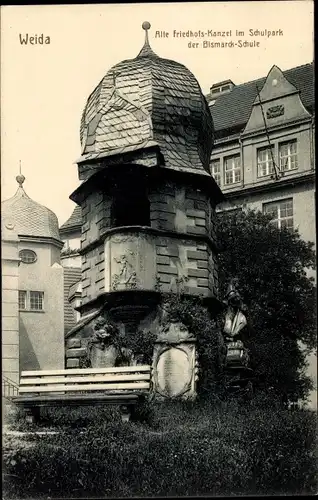
<svg viewBox="0 0 318 500"><path fill-rule="evenodd" d="M88 98L78 163L158 146L164 165L209 172L213 123L194 75L157 56L146 40L134 59L111 68Z"/></svg>

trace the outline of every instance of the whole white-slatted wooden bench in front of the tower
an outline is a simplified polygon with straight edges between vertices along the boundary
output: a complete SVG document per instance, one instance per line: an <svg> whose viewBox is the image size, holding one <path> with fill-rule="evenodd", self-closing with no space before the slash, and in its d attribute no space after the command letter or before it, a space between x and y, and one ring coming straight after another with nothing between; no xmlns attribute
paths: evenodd
<svg viewBox="0 0 318 500"><path fill-rule="evenodd" d="M23 371L12 401L24 408L28 422L43 406L119 405L123 421L150 389L150 366Z"/></svg>

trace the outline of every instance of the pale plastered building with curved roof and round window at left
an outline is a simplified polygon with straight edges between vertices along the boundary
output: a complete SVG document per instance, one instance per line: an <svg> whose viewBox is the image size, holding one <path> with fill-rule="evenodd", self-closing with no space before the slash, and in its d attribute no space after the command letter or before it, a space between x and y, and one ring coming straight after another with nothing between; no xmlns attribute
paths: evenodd
<svg viewBox="0 0 318 500"><path fill-rule="evenodd" d="M63 268L58 220L24 191L1 204L4 375L64 367Z"/></svg>

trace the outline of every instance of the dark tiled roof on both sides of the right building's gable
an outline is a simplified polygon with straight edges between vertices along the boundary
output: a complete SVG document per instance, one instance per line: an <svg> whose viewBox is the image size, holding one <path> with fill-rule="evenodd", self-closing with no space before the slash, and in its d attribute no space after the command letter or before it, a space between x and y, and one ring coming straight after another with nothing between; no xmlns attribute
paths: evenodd
<svg viewBox="0 0 318 500"><path fill-rule="evenodd" d="M314 105L313 63L283 71L283 74L300 91L304 106L312 111ZM210 106L216 138L230 135L230 133L226 134L227 131L244 128L257 96L256 86L261 91L265 80L266 77L236 85L231 92L216 97L215 104ZM211 99L213 97L210 96Z"/></svg>

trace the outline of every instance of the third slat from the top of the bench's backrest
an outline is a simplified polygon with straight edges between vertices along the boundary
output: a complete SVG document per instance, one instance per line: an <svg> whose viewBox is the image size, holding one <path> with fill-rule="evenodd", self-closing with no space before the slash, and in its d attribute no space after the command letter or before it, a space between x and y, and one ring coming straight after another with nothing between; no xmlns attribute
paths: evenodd
<svg viewBox="0 0 318 500"><path fill-rule="evenodd" d="M50 385L45 387L31 386L20 387L19 394L24 393L42 393L42 392L77 392L77 391L109 391L122 389L149 389L149 382L131 382L118 384L80 384L80 385Z"/></svg>

